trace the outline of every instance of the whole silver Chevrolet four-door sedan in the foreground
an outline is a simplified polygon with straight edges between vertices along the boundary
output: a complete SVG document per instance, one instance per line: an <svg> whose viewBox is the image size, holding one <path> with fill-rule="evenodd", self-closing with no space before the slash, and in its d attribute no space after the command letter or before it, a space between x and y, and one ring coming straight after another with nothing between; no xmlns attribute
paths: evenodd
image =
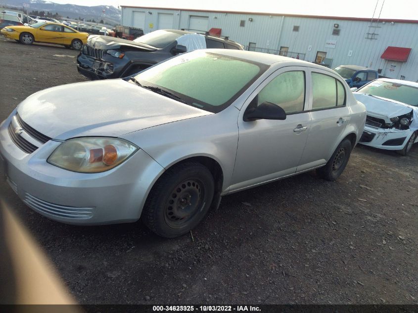
<svg viewBox="0 0 418 313"><path fill-rule="evenodd" d="M232 192L312 169L337 179L365 119L325 67L196 50L127 79L29 96L1 124L0 155L11 188L52 220L142 218L176 237Z"/></svg>

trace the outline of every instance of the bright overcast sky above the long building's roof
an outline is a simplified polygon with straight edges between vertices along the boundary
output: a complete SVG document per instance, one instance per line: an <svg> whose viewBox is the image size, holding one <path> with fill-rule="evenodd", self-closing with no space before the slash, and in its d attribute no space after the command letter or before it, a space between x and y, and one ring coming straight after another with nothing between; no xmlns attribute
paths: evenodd
<svg viewBox="0 0 418 313"><path fill-rule="evenodd" d="M418 20L418 0L51 0L79 5L133 5L285 14L307 14L371 18L381 10L380 18Z"/></svg>

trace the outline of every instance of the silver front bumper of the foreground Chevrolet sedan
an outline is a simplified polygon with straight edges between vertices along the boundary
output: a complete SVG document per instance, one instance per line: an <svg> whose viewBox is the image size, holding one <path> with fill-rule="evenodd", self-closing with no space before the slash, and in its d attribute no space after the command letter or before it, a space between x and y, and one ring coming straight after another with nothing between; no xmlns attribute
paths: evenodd
<svg viewBox="0 0 418 313"><path fill-rule="evenodd" d="M3 174L26 205L55 221L84 225L135 222L151 186L164 171L140 149L107 172L63 170L46 162L60 142L49 140L27 154L12 141L9 123L10 117L0 125Z"/></svg>

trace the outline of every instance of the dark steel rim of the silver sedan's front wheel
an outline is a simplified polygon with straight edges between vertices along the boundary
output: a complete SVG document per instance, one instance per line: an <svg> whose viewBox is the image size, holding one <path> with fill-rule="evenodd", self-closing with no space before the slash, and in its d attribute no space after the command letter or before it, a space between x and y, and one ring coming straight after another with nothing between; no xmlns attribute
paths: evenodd
<svg viewBox="0 0 418 313"><path fill-rule="evenodd" d="M181 228L201 211L205 198L205 186L199 179L187 179L171 192L164 208L165 222L173 228Z"/></svg>

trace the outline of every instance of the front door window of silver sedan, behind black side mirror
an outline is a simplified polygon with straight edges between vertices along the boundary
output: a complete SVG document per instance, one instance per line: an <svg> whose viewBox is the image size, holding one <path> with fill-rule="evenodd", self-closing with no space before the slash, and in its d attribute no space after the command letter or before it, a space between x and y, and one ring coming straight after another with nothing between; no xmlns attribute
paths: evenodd
<svg viewBox="0 0 418 313"><path fill-rule="evenodd" d="M275 103L287 114L303 111L305 72L291 71L280 74L267 84L253 101L257 101L257 105L266 101Z"/></svg>

